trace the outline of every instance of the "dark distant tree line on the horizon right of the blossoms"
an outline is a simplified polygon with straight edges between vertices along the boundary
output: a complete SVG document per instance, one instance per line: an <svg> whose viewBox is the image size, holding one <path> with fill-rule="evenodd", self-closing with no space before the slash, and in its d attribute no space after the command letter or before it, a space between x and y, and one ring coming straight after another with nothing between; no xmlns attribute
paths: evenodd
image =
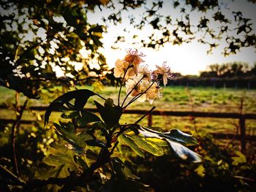
<svg viewBox="0 0 256 192"><path fill-rule="evenodd" d="M246 63L233 62L212 64L200 76L180 73L173 74L170 85L211 86L214 88L256 88L256 63L249 67Z"/></svg>

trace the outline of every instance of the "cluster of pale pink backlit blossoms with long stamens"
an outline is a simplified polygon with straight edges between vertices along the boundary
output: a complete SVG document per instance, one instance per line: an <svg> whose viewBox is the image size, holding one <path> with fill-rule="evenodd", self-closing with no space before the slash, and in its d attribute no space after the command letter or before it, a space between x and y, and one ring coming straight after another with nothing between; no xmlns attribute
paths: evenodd
<svg viewBox="0 0 256 192"><path fill-rule="evenodd" d="M140 65L144 62L143 56L145 55L138 53L138 50L130 49L123 60L118 59L116 61L114 76L123 77L121 86L125 83L127 88L127 96L123 104L127 97L133 97L129 103L137 99L140 102L147 100L152 104L154 99L162 96L159 82L162 81L166 85L167 79L172 78L170 67L166 63L162 64L162 66L156 66L157 69L154 72L148 70L148 66Z"/></svg>

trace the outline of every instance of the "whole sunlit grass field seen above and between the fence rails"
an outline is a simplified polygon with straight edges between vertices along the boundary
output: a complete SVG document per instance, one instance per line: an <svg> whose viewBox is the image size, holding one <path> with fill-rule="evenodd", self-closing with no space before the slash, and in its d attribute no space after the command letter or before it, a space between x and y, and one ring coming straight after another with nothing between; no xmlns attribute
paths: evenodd
<svg viewBox="0 0 256 192"><path fill-rule="evenodd" d="M83 87L89 88L91 87ZM58 90L58 88L57 88ZM56 90L56 91L57 91ZM1 98L0 104L14 102L14 91L0 88ZM101 95L105 98L112 98L117 101L118 89L106 87L101 91ZM121 99L124 99L124 90ZM156 110L173 110L173 111L203 111L203 112L240 112L241 101L243 100L244 113L256 113L256 90L241 89L214 89L214 88L184 88L184 87L167 87L164 89L164 95L161 99L157 99L153 104L148 102L140 103L135 101L127 109L150 110L152 106L157 107ZM29 101L29 105L48 104L54 98L42 96L42 99ZM94 98L95 99L95 98ZM100 99L96 99L100 101ZM122 100L121 100L122 101ZM87 107L94 107L93 99L89 99ZM40 113L39 115L43 115ZM24 114L24 119L38 118L38 113L31 112ZM1 110L1 118L15 117L14 112L10 110ZM51 120L56 120L58 115L53 115ZM140 115L123 115L121 123L132 123L140 118ZM147 119L141 124L146 125ZM154 126L162 127L166 130L170 128L179 128L184 131L203 130L207 132L236 133L238 131L238 120L232 119L214 119L214 118L196 118L191 120L189 117L177 118L170 116L154 116ZM256 134L256 121L246 120L246 134Z"/></svg>

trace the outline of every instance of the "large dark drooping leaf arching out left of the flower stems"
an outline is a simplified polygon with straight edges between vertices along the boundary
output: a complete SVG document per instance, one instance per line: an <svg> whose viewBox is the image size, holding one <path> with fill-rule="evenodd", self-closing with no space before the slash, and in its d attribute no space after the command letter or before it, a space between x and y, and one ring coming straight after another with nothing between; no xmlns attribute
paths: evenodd
<svg viewBox="0 0 256 192"><path fill-rule="evenodd" d="M67 104L70 106L69 101L72 99L75 99L74 109L72 110L83 110L83 107L85 106L87 100L90 96L94 96L95 93L93 91L90 91L88 89L80 89L75 91L69 91L67 93L64 93L62 96L59 96L57 99L53 100L48 109L45 112L45 125L49 121L50 113L53 110L60 111L61 107L64 107L64 104Z"/></svg>

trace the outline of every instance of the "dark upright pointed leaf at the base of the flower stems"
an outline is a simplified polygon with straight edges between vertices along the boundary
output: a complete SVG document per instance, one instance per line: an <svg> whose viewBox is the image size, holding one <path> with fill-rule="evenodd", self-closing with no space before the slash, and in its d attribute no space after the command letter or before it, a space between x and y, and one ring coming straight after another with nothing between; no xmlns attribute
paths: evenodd
<svg viewBox="0 0 256 192"><path fill-rule="evenodd" d="M107 99L105 106L102 106L102 104L99 104L97 101L94 101L94 104L102 120L109 128L118 125L123 110L120 106L113 106L113 99Z"/></svg>

